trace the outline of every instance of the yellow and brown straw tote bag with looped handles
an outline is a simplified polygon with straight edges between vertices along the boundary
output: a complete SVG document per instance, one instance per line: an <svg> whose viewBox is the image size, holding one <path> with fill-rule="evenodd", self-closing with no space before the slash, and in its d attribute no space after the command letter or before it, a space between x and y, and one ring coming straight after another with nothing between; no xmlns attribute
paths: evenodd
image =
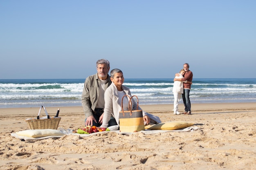
<svg viewBox="0 0 256 170"><path fill-rule="evenodd" d="M123 99L127 96L129 99L129 111L124 111ZM132 97L137 98L137 110L132 110ZM139 132L145 130L144 120L142 115L142 110L138 110L139 99L136 95L132 97L124 95L122 97L121 108L122 111L119 112L119 129L120 132Z"/></svg>

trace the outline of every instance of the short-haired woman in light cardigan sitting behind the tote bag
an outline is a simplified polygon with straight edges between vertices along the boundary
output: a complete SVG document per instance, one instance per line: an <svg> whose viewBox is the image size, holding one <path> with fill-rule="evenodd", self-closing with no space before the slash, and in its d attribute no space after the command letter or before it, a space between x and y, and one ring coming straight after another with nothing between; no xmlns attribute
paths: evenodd
<svg viewBox="0 0 256 170"><path fill-rule="evenodd" d="M117 125L119 126L119 112L121 109L121 100L124 95L132 96L130 93L130 89L126 86L123 86L124 83L124 75L123 72L117 68L113 69L110 72L110 80L112 84L106 89L104 94L105 99L105 107L104 107L104 115L103 122L101 127L108 127L108 122L110 121L111 115L115 118ZM132 99L132 110L137 110L137 102ZM129 110L129 100L128 97L124 97L123 99L123 109L124 111ZM142 110L138 107L138 110ZM148 113L143 111L143 119L146 124L150 122L150 118Z"/></svg>

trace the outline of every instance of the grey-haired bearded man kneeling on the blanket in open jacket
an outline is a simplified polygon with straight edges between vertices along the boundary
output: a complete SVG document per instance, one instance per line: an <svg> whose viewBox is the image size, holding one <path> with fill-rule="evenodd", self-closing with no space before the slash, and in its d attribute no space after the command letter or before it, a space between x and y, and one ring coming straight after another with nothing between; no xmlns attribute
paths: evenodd
<svg viewBox="0 0 256 170"><path fill-rule="evenodd" d="M104 112L104 93L112 83L108 72L110 62L100 59L96 62L97 73L85 79L82 93L82 106L85 113L85 126L101 126ZM110 119L110 125L117 125L114 117Z"/></svg>

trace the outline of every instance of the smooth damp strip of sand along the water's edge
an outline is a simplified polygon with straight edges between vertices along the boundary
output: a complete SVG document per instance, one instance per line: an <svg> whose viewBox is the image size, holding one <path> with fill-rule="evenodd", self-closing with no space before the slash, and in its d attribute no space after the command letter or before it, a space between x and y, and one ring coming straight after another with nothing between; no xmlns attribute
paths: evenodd
<svg viewBox="0 0 256 170"><path fill-rule="evenodd" d="M149 105L139 105L144 111L148 113L172 113L173 104L149 104ZM61 113L83 113L82 106L45 106L47 113L50 116L56 115L56 110L60 108ZM40 106L38 107L21 107L21 108L0 108L0 115L38 115ZM183 103L179 104L179 110L184 111ZM221 110L256 110L256 102L246 102L246 103L202 103L202 104L191 104L191 112L201 113L207 111L221 111ZM10 113L10 114L8 114ZM41 110L41 114L44 114L44 110Z"/></svg>

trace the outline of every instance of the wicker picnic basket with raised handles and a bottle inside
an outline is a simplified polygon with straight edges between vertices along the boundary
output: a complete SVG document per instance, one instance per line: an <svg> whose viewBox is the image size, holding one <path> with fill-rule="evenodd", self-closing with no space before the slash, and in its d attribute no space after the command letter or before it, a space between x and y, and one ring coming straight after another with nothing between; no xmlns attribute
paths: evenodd
<svg viewBox="0 0 256 170"><path fill-rule="evenodd" d="M40 118L39 115L42 108L45 110L46 117ZM61 117L58 117L58 112L55 117L50 117L44 106L40 107L36 118L26 119L27 125L30 129L57 129L60 121Z"/></svg>

